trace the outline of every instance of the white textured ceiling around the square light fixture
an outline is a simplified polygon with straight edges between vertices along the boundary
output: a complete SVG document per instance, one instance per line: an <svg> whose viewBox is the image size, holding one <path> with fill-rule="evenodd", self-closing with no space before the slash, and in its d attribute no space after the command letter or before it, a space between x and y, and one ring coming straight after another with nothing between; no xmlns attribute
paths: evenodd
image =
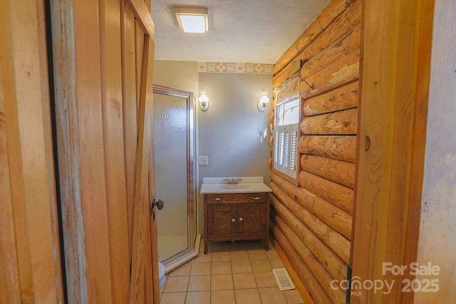
<svg viewBox="0 0 456 304"><path fill-rule="evenodd" d="M329 0L152 0L155 60L276 63ZM173 6L209 9L209 31L184 33Z"/></svg>

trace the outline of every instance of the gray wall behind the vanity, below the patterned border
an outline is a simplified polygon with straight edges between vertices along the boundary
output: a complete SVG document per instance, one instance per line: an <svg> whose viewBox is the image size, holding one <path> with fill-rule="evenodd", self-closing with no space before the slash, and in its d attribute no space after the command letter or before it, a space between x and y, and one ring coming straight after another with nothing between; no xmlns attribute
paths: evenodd
<svg viewBox="0 0 456 304"><path fill-rule="evenodd" d="M199 155L209 157L208 166L199 166L199 187L203 177L261 176L269 184L269 133L260 142L259 129L269 125L272 75L199 73L198 83L206 86L209 98L207 112L198 108ZM261 88L268 90L270 100L264 112L257 108ZM199 210L202 231L202 195Z"/></svg>

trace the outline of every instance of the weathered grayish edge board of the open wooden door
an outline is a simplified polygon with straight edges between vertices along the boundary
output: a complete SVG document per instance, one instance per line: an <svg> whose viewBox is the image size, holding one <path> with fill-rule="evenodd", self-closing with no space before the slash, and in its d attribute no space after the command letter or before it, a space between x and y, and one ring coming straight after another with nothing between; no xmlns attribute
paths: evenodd
<svg viewBox="0 0 456 304"><path fill-rule="evenodd" d="M54 1L52 26L54 95L56 99L57 150L60 178L63 248L65 253L66 284L68 300L87 303L85 231L81 221L81 166L78 134L78 111L76 83L74 83L74 22L73 2ZM60 102L58 102L60 101ZM71 138L71 141L67 139ZM71 168L71 169L69 169ZM66 204L71 202L71 204Z"/></svg>

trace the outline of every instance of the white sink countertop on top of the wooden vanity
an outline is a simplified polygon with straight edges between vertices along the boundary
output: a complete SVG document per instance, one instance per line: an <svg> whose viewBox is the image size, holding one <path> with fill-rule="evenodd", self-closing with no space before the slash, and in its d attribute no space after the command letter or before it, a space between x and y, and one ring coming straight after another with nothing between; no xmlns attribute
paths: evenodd
<svg viewBox="0 0 456 304"><path fill-rule="evenodd" d="M258 193L272 192L263 182L263 177L233 177L240 179L238 184L227 184L223 179L232 177L204 177L201 185L201 194L224 194L224 193Z"/></svg>

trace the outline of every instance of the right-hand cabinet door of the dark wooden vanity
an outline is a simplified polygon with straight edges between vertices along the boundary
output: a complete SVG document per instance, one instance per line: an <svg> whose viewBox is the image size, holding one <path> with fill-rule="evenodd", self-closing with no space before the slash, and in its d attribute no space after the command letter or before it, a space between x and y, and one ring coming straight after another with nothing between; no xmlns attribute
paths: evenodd
<svg viewBox="0 0 456 304"><path fill-rule="evenodd" d="M266 204L239 204L237 232L254 234L266 231Z"/></svg>

